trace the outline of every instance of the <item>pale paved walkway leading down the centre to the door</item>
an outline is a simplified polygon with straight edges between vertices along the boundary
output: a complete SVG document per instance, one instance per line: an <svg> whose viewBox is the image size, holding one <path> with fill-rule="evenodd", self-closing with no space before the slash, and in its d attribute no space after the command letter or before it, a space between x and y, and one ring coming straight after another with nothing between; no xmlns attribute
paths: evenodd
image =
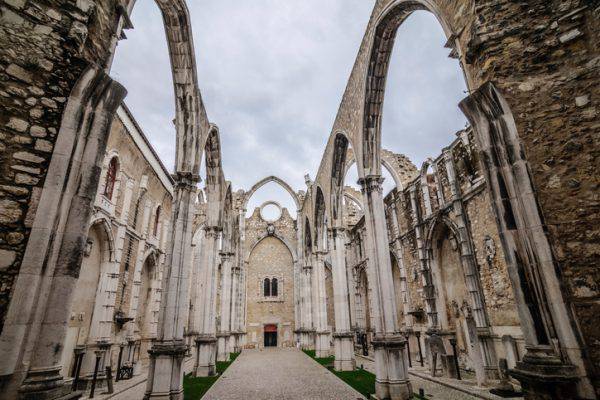
<svg viewBox="0 0 600 400"><path fill-rule="evenodd" d="M202 400L355 400L364 397L296 349L244 350Z"/></svg>

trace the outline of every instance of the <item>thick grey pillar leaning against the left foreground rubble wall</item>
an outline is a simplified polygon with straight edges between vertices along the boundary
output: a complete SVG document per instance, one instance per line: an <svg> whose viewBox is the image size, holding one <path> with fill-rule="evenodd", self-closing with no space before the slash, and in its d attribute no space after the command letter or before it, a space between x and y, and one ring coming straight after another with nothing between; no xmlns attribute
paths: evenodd
<svg viewBox="0 0 600 400"><path fill-rule="evenodd" d="M14 389L19 385L22 399L58 399L71 392L60 374L59 350L67 333L110 125L125 94L108 75L90 68L63 113L48 170L52 179L44 183L0 340L0 370L13 375L3 388L7 398L17 397Z"/></svg>

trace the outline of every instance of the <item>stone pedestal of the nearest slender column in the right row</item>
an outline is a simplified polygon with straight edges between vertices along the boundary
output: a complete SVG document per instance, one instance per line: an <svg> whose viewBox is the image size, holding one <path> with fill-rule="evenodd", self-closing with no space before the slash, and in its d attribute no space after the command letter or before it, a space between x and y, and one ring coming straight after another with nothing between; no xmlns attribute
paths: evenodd
<svg viewBox="0 0 600 400"><path fill-rule="evenodd" d="M412 386L408 379L406 339L401 335L376 336L372 341L375 353L375 395L378 399L408 400Z"/></svg>

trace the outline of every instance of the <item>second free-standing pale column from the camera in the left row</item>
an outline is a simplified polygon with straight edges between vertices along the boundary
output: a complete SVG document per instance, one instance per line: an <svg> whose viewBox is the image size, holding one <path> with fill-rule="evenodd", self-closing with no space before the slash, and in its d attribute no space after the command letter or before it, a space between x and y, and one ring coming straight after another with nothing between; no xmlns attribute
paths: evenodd
<svg viewBox="0 0 600 400"><path fill-rule="evenodd" d="M202 243L202 264L200 266L200 291L202 319L200 332L196 337L195 376L213 376L216 373L215 360L217 351L217 251L221 228L207 226Z"/></svg>

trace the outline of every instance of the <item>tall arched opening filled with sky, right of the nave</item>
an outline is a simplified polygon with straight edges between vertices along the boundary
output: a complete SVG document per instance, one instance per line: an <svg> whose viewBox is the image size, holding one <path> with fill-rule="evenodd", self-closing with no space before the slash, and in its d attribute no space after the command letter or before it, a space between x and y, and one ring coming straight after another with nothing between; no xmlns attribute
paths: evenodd
<svg viewBox="0 0 600 400"><path fill-rule="evenodd" d="M464 73L446 42L437 18L419 10L402 22L390 49L381 147L405 154L417 166L439 154L467 124L457 106L467 93Z"/></svg>

